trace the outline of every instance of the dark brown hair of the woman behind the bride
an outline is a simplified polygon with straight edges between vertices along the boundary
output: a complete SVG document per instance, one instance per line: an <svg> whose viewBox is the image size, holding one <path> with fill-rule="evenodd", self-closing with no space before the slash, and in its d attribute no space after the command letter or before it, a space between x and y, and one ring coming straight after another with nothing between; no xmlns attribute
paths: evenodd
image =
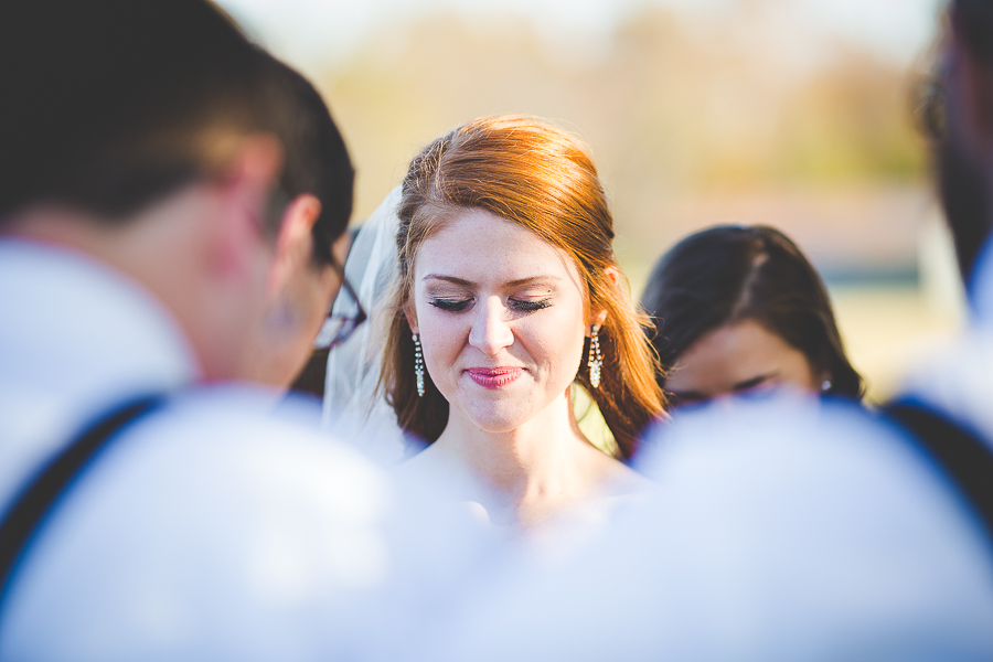
<svg viewBox="0 0 993 662"><path fill-rule="evenodd" d="M828 393L861 398L865 392L845 357L824 284L778 229L720 225L690 235L655 264L641 303L655 323L652 345L663 371L706 333L754 320L802 352L814 374L826 372Z"/></svg>

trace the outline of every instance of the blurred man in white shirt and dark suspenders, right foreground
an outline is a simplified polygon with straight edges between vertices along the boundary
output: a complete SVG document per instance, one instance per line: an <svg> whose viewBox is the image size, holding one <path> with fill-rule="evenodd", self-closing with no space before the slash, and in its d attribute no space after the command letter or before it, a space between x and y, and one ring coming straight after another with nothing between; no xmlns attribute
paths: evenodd
<svg viewBox="0 0 993 662"><path fill-rule="evenodd" d="M460 605L426 660L993 659L993 2L950 12L932 118L974 314L900 424L790 395L676 416L651 503Z"/></svg>

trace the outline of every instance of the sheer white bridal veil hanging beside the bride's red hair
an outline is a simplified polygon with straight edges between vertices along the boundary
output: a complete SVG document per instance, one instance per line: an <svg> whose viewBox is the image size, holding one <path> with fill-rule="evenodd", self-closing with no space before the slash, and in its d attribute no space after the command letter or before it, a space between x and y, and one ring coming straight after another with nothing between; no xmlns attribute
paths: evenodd
<svg viewBox="0 0 993 662"><path fill-rule="evenodd" d="M365 309L369 320L348 341L328 354L324 377L322 427L333 430L342 424L359 437L375 444L369 452L387 463L399 462L407 447L393 407L376 396L383 348L392 310L389 293L396 276L396 215L401 201L397 186L362 224L345 261L345 277ZM333 314L351 314L355 302L344 290L332 308ZM414 370L414 366L410 366ZM373 441L374 440L374 441Z"/></svg>

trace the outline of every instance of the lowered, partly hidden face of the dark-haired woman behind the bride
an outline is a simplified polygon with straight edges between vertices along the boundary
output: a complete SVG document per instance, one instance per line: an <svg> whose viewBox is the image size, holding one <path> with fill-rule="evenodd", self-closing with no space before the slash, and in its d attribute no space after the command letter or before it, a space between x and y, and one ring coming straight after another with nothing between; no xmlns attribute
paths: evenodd
<svg viewBox="0 0 993 662"><path fill-rule="evenodd" d="M665 391L680 405L778 386L818 391L824 378L802 352L758 322L744 320L690 345L665 380Z"/></svg>

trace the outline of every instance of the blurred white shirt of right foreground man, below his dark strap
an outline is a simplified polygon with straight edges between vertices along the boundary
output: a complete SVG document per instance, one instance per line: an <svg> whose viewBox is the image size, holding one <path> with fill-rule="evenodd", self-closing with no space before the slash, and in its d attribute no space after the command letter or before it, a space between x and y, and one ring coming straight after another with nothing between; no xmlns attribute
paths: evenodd
<svg viewBox="0 0 993 662"><path fill-rule="evenodd" d="M457 600L420 659L993 659L989 542L888 426L783 395L655 434L645 508Z"/></svg>

